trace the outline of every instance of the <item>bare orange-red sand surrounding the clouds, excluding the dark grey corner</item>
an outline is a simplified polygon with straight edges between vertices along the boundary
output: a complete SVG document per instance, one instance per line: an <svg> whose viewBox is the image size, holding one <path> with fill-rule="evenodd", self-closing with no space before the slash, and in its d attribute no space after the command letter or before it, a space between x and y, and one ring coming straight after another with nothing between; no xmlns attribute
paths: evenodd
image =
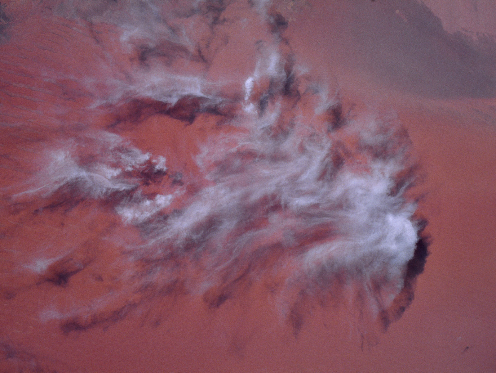
<svg viewBox="0 0 496 373"><path fill-rule="evenodd" d="M42 306L47 302L77 306L78 299L82 303L109 289L87 289L85 284L91 274L84 272L73 276L70 287L61 290L49 283L37 284L34 275L11 276L10 271L23 260L25 253L40 250L39 242L48 242L49 246L42 249L52 253L57 253L58 245L68 240L74 246L107 245L94 265L112 263L113 243L106 243L101 236L112 231L116 223L105 214L90 219L91 206L85 206L77 207L70 220L54 212L36 224L28 222L22 214L16 215L16 220L2 214L0 370L8 373L496 372L496 100L467 97L463 89L453 97L447 97L440 89L422 86L410 89L410 80L395 80L400 75L384 78L388 74L384 61L394 65L393 56L374 57L371 65L360 42L344 50L361 36L343 23L367 18L367 14L372 14L369 13L372 6L383 6L373 14L399 17L391 7L394 4L388 7L387 1L384 1L386 5L379 3L380 0L368 2L362 9L362 5L341 7L338 2L311 1L294 13L287 8L285 16L291 17L291 21L284 34L295 51L297 63L308 67L312 75L329 79L332 86L339 87L345 107L355 104L356 111L395 113L408 130L419 158L424 179L418 186L424 193L419 212L429 222L431 254L417 281L413 303L386 333L375 337L376 343L363 348L356 335L354 317L347 315L346 310L319 308L309 310L311 317L295 338L256 289L246 298L227 302L215 311L194 297L155 299L148 309L130 312L116 322L63 333L56 319L40 318ZM288 4L281 2L282 7ZM407 21L399 17L397 27L408 24L405 17ZM63 59L53 62L50 49L56 45L65 48L79 43L81 56L100 53L84 30L74 25L64 29L67 23L61 19L57 23L62 26L53 29L50 21L37 25L20 23L26 28L25 38L15 45L7 41L1 46L2 69L6 70L0 76L6 76L8 70L15 75L9 76L8 81L17 85L2 87L0 108L3 113L18 115L29 123L23 129L2 127L2 153L8 155L1 161L3 190L21 182L36 168L36 164L23 163L23 159L27 153L42 150L38 140L61 131L44 123L40 113L56 107L60 98L45 93L43 82L31 74L41 69L41 65L55 71L76 69L81 74L86 74L85 69L91 70L91 64L87 65L84 58L78 61L68 57L71 66L63 66ZM62 37L53 35L54 41L50 41L50 33L62 29L61 35L70 38L70 42L64 44ZM377 32L379 43L383 36L380 32L385 31ZM26 66L26 59L34 61L27 64L31 72L19 67ZM419 84L429 84L430 78ZM445 79L449 80L449 76ZM28 86L35 83L41 88L33 92ZM67 82L65 89L80 88L71 84ZM62 90L63 87L61 95ZM29 107L30 99L34 98L42 101L41 106ZM74 109L71 115L78 115L81 102L71 105ZM63 118L66 114L59 115ZM84 122L84 118L80 121ZM88 126L98 123L94 120ZM178 149L170 156L176 154L178 159L174 162L178 163L181 154L194 148L181 139L201 137L204 132L191 126L187 127L188 131L197 133L164 136L161 133L164 127L154 123L154 119L147 123L139 131L129 130L126 137L147 151L163 146L153 139L176 136L171 142ZM172 127L165 128L170 131ZM183 167L194 173L194 165ZM63 229L61 223L65 225ZM138 236L132 228L125 234L130 240ZM120 270L118 265L108 268ZM106 276L109 280L105 279L102 286L119 287L110 280L112 272ZM12 283L13 278L19 283Z"/></svg>

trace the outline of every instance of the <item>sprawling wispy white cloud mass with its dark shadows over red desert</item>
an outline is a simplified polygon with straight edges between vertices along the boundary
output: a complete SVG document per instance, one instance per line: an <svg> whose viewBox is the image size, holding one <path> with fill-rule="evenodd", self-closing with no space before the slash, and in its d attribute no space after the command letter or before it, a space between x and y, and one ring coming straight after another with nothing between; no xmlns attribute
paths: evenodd
<svg viewBox="0 0 496 373"><path fill-rule="evenodd" d="M408 135L299 68L269 3L51 2L17 24L37 17L67 47L51 63L78 64L74 33L93 54L77 74L24 61L44 85L22 95L8 67L7 93L36 103L4 106L9 128L44 130L12 158L31 171L2 203L61 231L13 251L2 276L23 280L5 295L77 298L41 312L66 333L171 294L216 308L257 288L295 334L313 304L351 304L382 328L410 304L427 243ZM19 30L3 32L8 52Z"/></svg>

